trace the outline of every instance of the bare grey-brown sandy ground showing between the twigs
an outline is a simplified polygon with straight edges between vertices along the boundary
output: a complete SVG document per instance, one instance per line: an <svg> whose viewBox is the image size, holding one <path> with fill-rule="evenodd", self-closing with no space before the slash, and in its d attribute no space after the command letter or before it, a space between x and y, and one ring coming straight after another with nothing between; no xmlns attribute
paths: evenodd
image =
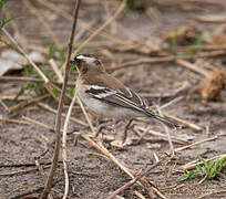
<svg viewBox="0 0 226 199"><path fill-rule="evenodd" d="M69 12L71 11L71 2L63 4L58 1L59 7L64 8ZM19 10L19 13L25 13L25 8L21 4L12 4L9 2L8 9ZM225 8L218 4L205 4L203 8L202 3L196 3L195 8L197 10L191 11L193 14L196 13L216 13L224 12ZM96 18L97 9L103 9L103 6L96 6L95 3L84 3L81 9L81 19L89 21ZM160 17L157 21L152 18L151 8L150 11L145 13L124 11L120 17L117 24L112 24L110 28L112 32L116 34L126 36L133 35L133 38L138 41L144 41L151 36L161 36L164 32L170 30L175 30L185 24L198 25L202 30L214 30L217 24L201 24L195 21L186 19L189 11L184 11L182 7L177 4L162 4L156 9L157 15ZM147 10L148 10L147 9ZM60 38L61 42L64 43L68 40L70 24L68 21L63 20L61 17L51 13L48 9L43 12L49 14L49 20L54 21L52 28L56 35ZM90 14L88 14L88 12ZM113 11L111 11L112 13ZM102 23L107 19L105 12L97 14L97 23ZM50 43L48 40L48 34L43 32L42 28L33 23L34 18L29 20L18 21L21 34L28 39L31 43L37 43L37 45L45 45ZM58 23L59 22L59 23ZM21 28L22 25L23 29ZM9 27L10 30L10 27ZM122 31L122 34L120 33ZM37 34L39 32L39 34ZM33 38L33 35L38 35ZM101 40L101 39L100 39ZM103 40L103 39L102 39ZM33 41L33 42L32 42ZM100 49L96 49L100 51ZM120 62L122 60L127 60L138 57L137 54L133 53L112 53L113 61ZM217 57L216 62L223 62L224 57ZM213 60L212 60L213 61ZM109 62L111 63L111 61ZM111 64L107 65L109 67ZM114 66L114 64L113 64ZM224 64L223 64L224 67ZM172 92L179 87L185 81L189 82L193 87L198 85L198 78L184 67L176 65L175 63L164 63L164 64L143 64L127 70L120 70L113 72L113 74L119 77L122 82L130 87L134 88L138 93L165 93ZM8 85L7 85L8 84ZM6 90L6 87L17 87L22 86L22 84L17 83L4 83L0 84L0 91ZM171 132L172 136L187 138L191 137L191 142L195 143L206 138L214 137L220 133L225 135L226 129L226 92L222 92L222 101L203 103L198 94L189 95L187 98L186 94L181 94L183 97L175 104L172 104L164 112L174 115L176 117L183 118L187 122L194 123L204 129L206 126L209 127L208 134L204 132L195 132L191 128L183 128L176 132ZM158 104L164 104L170 102L172 98L165 100L151 100L147 98L148 103L153 101ZM8 105L12 105L13 102L6 102ZM52 107L56 107L56 104L51 101L44 101ZM3 108L0 106L0 113L6 116ZM81 111L74 111L73 115L85 122L84 116ZM13 118L21 119L22 116L33 118L35 121L42 122L50 126L54 126L55 115L38 107L35 104L33 108L21 109ZM155 124L154 121L148 121L146 123L136 122L138 126L146 127L150 124ZM74 123L70 123L70 130L74 128L80 128ZM157 129L157 128L156 128ZM70 132L69 130L69 132ZM123 130L123 126L119 126L115 132L104 132L106 135L115 136ZM160 125L158 130L165 134L164 128ZM90 133L89 129L84 129L85 133ZM76 132L75 132L76 133ZM45 142L43 136L50 142L53 140L53 133L38 125L21 125L6 123L0 128L0 198L22 198L22 195L35 189L42 189L44 180L37 170L34 165L34 157L39 156L45 149ZM148 138L156 138L156 136L147 135ZM75 134L70 134L68 136L68 163L69 163L69 177L70 177L70 198L82 198L82 199L102 199L105 198L111 191L123 186L130 180L123 171L116 168L110 160L105 157L100 156L99 151L93 149L88 142L79 138L76 145L74 140L76 138ZM129 139L137 139L137 135L134 132L130 132ZM146 142L142 140L140 144L133 144L131 146L125 146L123 149L117 149L111 146L110 142L103 142L103 145L112 153L124 166L135 171L147 168L155 163L153 154L155 153L158 157L162 157L165 153L168 153L168 143L164 140L151 142L152 144L158 144L161 147L155 149L147 148ZM185 165L202 156L204 158L210 158L216 155L226 153L226 136L219 136L213 142L207 142L198 145L194 148L188 148L176 153L175 157L171 163L165 166L161 166L153 169L147 175L147 179L153 181L161 192L166 198L172 199L192 199L198 198L204 193L208 193L215 190L226 189L226 181L223 179L218 180L206 180L198 185L201 179L195 178L185 182L178 182L177 178L181 172L176 171L179 166ZM174 147L181 147L184 145L174 144ZM42 164L51 163L52 151L50 151L44 159L41 160ZM60 157L60 160L62 158ZM171 176L165 175L172 166L176 165L176 169ZM30 170L31 169L31 170ZM24 172L13 174L13 171L27 170ZM44 169L44 174L48 174L49 169ZM64 176L62 161L56 169L54 177L54 187L52 190L53 198L62 197L64 188ZM146 198L144 190L137 185L134 185L121 193L124 198L137 198L134 195L134 190L140 190ZM40 192L37 191L37 192ZM35 195L35 193L34 193ZM37 196L37 195L35 195ZM35 198L35 196L33 198ZM226 193L213 195L209 198L226 198Z"/></svg>

